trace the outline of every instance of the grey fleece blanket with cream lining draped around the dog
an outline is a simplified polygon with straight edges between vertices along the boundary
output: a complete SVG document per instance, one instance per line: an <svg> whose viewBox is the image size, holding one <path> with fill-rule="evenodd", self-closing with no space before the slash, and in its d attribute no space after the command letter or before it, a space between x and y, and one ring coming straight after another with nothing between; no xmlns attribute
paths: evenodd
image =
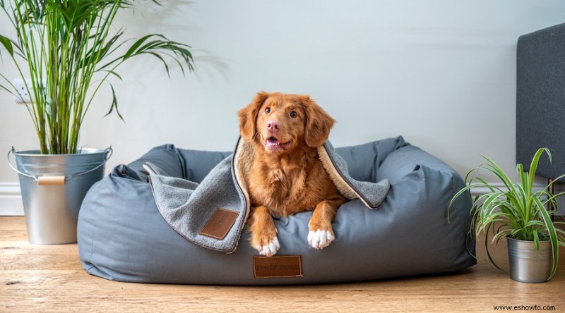
<svg viewBox="0 0 565 313"><path fill-rule="evenodd" d="M318 154L343 197L359 199L369 209L379 207L390 188L388 180L355 180L330 142L318 147ZM174 231L196 245L231 253L237 249L249 216L251 203L245 175L253 161L254 145L239 137L234 153L215 166L201 183L167 176L153 164L144 167L150 174L157 208Z"/></svg>

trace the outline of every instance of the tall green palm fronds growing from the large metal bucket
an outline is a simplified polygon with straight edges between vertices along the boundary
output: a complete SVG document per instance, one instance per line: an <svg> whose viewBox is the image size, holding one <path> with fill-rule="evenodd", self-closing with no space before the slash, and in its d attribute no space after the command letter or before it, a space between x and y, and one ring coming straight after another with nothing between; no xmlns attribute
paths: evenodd
<svg viewBox="0 0 565 313"><path fill-rule="evenodd" d="M122 63L150 55L162 61L167 75L166 59L176 62L183 75L185 68L194 69L188 45L158 34L124 39L124 30L113 27L119 11L134 9L140 1L0 0L0 8L16 32L16 39L0 34L0 47L32 94L26 106L42 154L78 152L81 125L105 82L112 90L108 114L115 110L123 119L114 87L107 80L110 76L121 80L116 70ZM0 78L1 90L20 97L6 75L0 73Z"/></svg>

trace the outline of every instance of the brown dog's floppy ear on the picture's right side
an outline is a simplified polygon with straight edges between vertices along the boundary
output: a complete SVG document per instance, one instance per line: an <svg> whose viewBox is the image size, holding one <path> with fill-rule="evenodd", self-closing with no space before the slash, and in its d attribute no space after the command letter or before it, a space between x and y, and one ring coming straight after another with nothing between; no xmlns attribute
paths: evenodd
<svg viewBox="0 0 565 313"><path fill-rule="evenodd" d="M309 96L302 96L300 100L306 112L304 140L309 147L319 147L328 140L335 120Z"/></svg>

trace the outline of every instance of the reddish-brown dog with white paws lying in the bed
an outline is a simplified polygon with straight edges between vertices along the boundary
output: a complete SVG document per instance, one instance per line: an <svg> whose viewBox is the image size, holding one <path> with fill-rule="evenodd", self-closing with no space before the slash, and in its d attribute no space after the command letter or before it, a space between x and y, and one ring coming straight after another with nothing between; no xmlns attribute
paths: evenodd
<svg viewBox="0 0 565 313"><path fill-rule="evenodd" d="M318 157L335 120L307 95L259 92L238 112L239 130L254 145L254 162L246 173L251 199L248 225L251 247L267 257L280 244L273 216L314 211L308 243L330 245L331 222L345 198L335 188Z"/></svg>

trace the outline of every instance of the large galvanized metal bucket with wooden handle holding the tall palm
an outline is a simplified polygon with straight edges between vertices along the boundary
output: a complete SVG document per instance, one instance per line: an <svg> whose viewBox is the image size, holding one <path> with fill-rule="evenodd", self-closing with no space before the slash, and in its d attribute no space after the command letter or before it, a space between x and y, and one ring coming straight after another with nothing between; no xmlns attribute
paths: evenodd
<svg viewBox="0 0 565 313"><path fill-rule="evenodd" d="M16 158L17 169L10 154ZM104 177L112 148L82 149L78 154L18 152L12 147L8 164L18 172L30 243L76 243L78 211L88 189Z"/></svg>

